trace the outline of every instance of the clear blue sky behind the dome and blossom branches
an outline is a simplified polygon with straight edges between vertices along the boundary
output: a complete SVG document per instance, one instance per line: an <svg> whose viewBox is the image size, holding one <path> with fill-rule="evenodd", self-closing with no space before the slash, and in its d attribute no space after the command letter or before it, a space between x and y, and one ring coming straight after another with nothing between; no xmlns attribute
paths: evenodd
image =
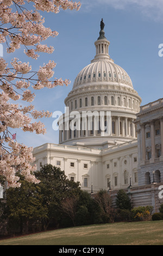
<svg viewBox="0 0 163 256"><path fill-rule="evenodd" d="M40 54L31 62L18 50L11 56L29 61L37 69L48 60L57 63L54 77L69 79L68 87L36 91L35 108L64 113L64 99L71 91L73 81L95 57L95 45L100 31L100 21L105 23L105 36L110 41L109 55L129 74L134 89L142 98L142 104L163 97L163 57L159 57L159 44L163 44L162 0L82 0L79 11L60 11L58 14L42 13L45 26L59 32L57 38L46 41L55 48L53 54ZM54 118L42 119L46 135L14 130L17 142L29 147L44 143L58 143L58 131L52 129Z"/></svg>

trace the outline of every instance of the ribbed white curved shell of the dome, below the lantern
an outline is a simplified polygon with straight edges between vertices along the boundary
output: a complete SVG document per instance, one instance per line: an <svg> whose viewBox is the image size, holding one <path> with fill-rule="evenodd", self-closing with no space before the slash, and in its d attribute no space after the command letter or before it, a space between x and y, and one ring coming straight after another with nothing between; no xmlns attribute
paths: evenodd
<svg viewBox="0 0 163 256"><path fill-rule="evenodd" d="M88 83L114 82L133 88L133 83L127 72L110 60L99 60L87 65L76 77L73 89Z"/></svg>

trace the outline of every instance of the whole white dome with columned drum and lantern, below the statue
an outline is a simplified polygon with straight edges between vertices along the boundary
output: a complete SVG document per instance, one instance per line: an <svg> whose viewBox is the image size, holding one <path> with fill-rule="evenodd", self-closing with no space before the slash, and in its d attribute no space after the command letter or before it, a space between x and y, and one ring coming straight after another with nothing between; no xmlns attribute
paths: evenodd
<svg viewBox="0 0 163 256"><path fill-rule="evenodd" d="M71 119L67 125L64 118L60 144L108 148L136 139L133 121L139 112L141 97L127 72L110 58L110 42L104 34L101 29L95 41L95 58L79 72L65 99L69 113L78 113L78 121L73 123L75 130L72 130Z"/></svg>

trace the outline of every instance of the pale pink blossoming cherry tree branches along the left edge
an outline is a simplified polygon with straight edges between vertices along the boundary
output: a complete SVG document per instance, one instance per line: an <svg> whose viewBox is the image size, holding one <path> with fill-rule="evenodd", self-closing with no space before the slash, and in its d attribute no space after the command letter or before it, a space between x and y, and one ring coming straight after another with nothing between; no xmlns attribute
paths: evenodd
<svg viewBox="0 0 163 256"><path fill-rule="evenodd" d="M33 10L27 9L32 5ZM43 26L44 18L41 11L58 13L59 10L79 10L80 2L68 0L0 0L0 43L7 44L7 52L13 53L23 48L24 54L33 59L39 57L39 52L52 53L53 47L42 44L50 36L58 32ZM8 182L8 186L20 186L16 173L22 174L29 182L39 182L33 172L36 166L32 148L17 143L12 139L12 129L21 128L23 131L45 133L46 129L40 122L33 119L50 117L48 111L37 111L29 102L34 100L34 90L44 87L67 86L70 81L54 78L54 61L40 66L35 71L29 63L22 63L17 58L6 63L0 58L0 174ZM27 103L22 107L20 100ZM16 103L14 103L17 101Z"/></svg>

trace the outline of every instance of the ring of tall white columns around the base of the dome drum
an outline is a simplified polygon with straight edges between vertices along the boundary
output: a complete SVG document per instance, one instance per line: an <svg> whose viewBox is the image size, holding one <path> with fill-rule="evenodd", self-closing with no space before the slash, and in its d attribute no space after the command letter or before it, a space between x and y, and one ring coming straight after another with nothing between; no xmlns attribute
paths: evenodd
<svg viewBox="0 0 163 256"><path fill-rule="evenodd" d="M105 137L127 137L136 138L136 126L133 123L133 118L111 115L108 120L103 119L103 126L100 124L100 118L95 116L85 117L74 122L73 129L71 129L70 122L63 122L59 129L59 143L68 141L74 138L83 138L90 136L105 136Z"/></svg>

